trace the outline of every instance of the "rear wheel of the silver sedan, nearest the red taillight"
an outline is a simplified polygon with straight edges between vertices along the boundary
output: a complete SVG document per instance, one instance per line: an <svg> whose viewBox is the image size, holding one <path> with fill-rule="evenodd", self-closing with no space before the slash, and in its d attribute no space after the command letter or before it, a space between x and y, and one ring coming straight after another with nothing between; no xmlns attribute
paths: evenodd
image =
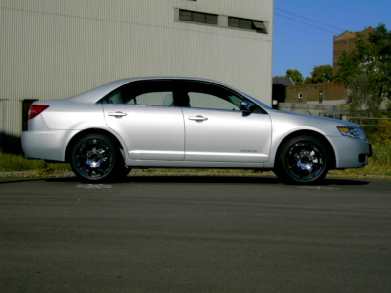
<svg viewBox="0 0 391 293"><path fill-rule="evenodd" d="M119 148L101 134L88 134L77 141L72 148L70 165L78 178L87 181L110 181L125 173Z"/></svg>

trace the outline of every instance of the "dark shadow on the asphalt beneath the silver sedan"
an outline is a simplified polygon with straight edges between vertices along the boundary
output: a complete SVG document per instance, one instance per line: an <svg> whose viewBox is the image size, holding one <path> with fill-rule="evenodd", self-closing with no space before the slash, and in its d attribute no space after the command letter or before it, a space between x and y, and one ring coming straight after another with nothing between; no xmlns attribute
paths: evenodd
<svg viewBox="0 0 391 293"><path fill-rule="evenodd" d="M47 178L47 182L78 182L81 181L76 177L65 178ZM224 184L283 184L297 186L298 184L283 183L277 177L237 177L237 176L128 176L122 180L107 181L105 183L224 183ZM335 179L327 178L315 184L305 183L303 185L367 185L369 181L359 179Z"/></svg>

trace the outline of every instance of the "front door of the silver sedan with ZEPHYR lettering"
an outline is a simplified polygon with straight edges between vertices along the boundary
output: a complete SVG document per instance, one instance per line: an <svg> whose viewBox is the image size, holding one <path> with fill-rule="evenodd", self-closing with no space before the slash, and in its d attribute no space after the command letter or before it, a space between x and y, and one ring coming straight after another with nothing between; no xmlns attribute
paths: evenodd
<svg viewBox="0 0 391 293"><path fill-rule="evenodd" d="M260 108L240 110L239 94L215 84L184 82L185 160L263 163L269 159L271 121ZM175 93L174 93L175 94Z"/></svg>

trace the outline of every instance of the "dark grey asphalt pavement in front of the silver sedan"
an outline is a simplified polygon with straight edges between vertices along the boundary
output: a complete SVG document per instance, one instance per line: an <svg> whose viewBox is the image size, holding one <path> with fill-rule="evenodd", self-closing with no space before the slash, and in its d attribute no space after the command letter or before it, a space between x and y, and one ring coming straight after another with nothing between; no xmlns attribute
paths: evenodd
<svg viewBox="0 0 391 293"><path fill-rule="evenodd" d="M391 292L391 180L0 179L0 292Z"/></svg>

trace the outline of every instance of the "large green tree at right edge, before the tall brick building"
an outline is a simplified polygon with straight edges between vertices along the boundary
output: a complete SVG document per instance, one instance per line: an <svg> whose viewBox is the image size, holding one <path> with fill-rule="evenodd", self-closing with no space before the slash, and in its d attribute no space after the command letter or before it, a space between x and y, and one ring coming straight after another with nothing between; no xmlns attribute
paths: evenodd
<svg viewBox="0 0 391 293"><path fill-rule="evenodd" d="M366 40L358 37L357 49L344 52L337 62L335 80L349 89L348 106L352 115L379 117L390 107L391 31L379 24Z"/></svg>

